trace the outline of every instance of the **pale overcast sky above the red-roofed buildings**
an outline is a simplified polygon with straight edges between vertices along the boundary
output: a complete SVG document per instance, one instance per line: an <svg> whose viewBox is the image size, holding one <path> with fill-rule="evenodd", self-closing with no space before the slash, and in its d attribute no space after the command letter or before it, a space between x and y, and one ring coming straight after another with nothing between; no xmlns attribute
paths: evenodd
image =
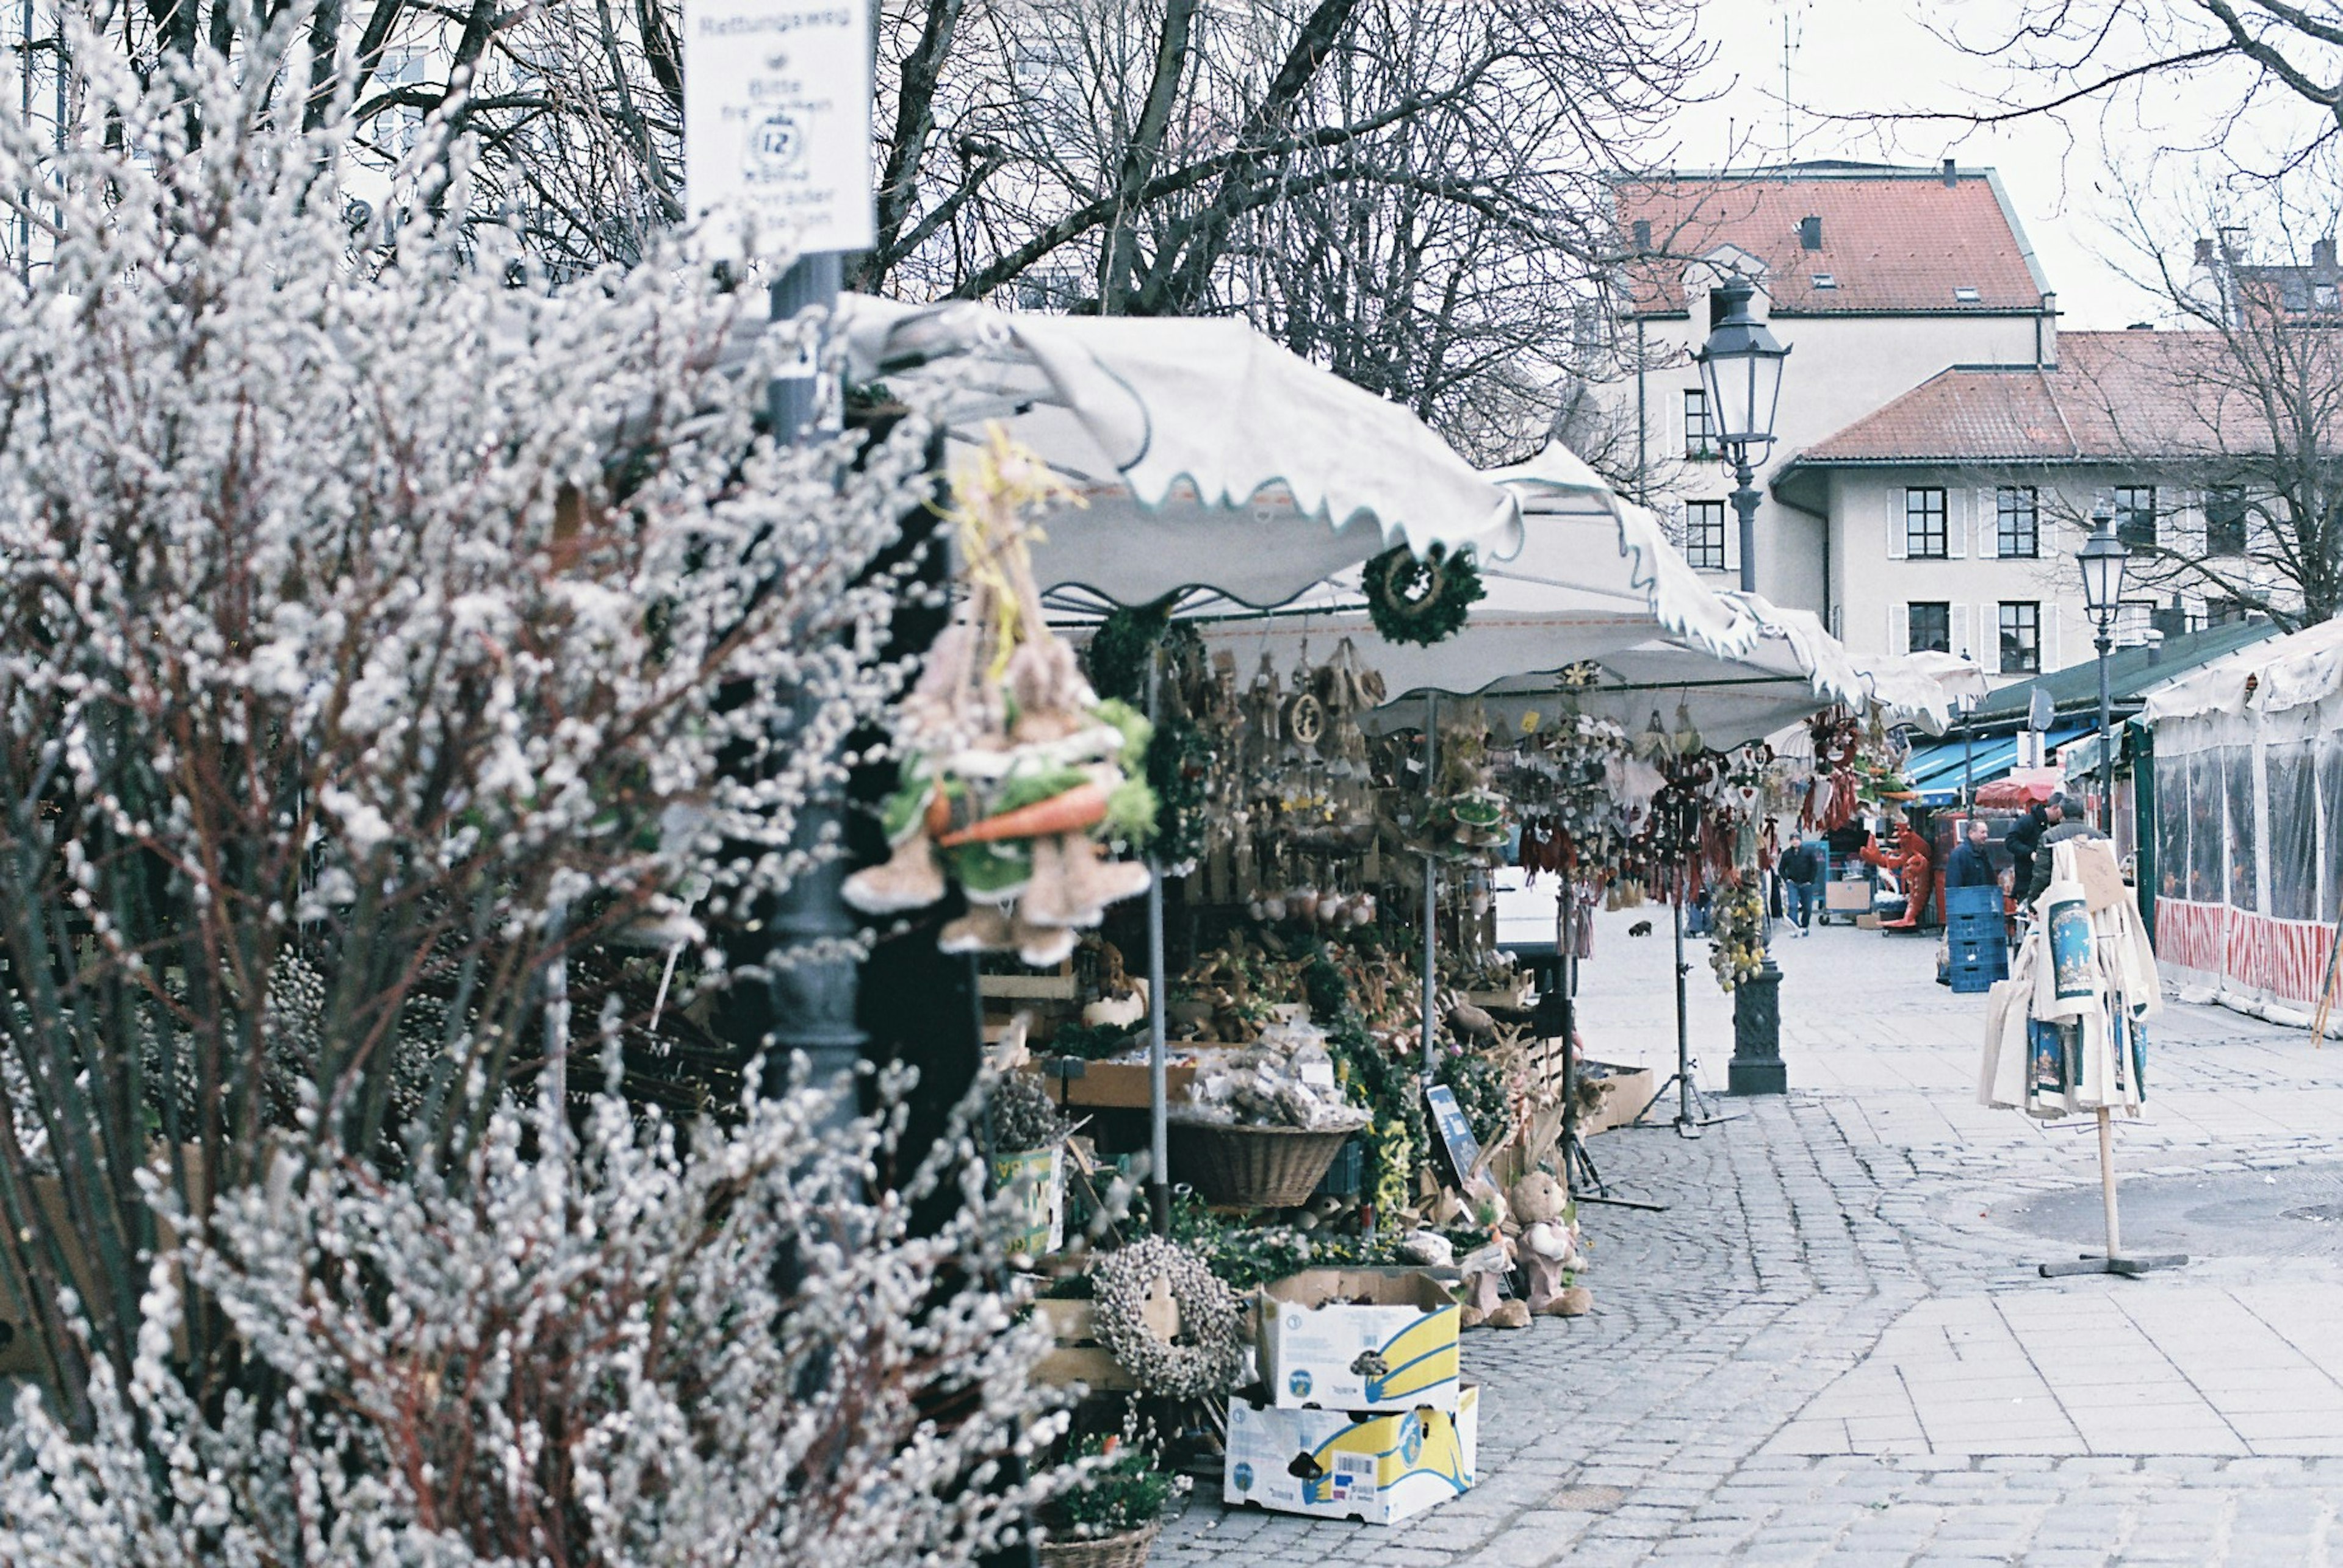
<svg viewBox="0 0 2343 1568"><path fill-rule="evenodd" d="M1924 5L1926 0L1921 0ZM2003 129L1952 122L1893 126L1846 124L1835 115L1959 108L1996 82L1994 66L1963 56L1917 19L1914 0L1708 0L1701 33L1717 44L1706 91L1713 101L1680 115L1673 164L1715 169L1776 161L1783 147L1783 21L1790 23L1790 145L1797 159L1860 159L1989 166L2017 208L2027 241L2057 290L2062 325L2123 328L2156 321L2153 295L2130 283L2120 264L2139 267L2116 222L2118 185L2153 178L2167 190L2200 180L2200 164L2158 157L2186 140L2177 126L2207 124L2224 105L2214 84L2174 84L2149 105L2085 108L2064 122L2031 119ZM1935 0L1926 14L1956 16L1966 37L1982 37L2010 0ZM2188 101L2191 94L2195 101ZM2153 124L2163 117L2163 124ZM1739 154L1731 154L1734 147ZM2188 222L2186 206L2174 222ZM2172 234L2186 250L2193 234Z"/></svg>

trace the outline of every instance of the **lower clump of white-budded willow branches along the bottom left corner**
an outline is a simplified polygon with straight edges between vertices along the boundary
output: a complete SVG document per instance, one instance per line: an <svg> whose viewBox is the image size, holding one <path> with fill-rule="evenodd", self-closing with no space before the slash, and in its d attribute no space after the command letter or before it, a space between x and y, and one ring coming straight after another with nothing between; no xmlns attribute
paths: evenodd
<svg viewBox="0 0 2343 1568"><path fill-rule="evenodd" d="M1026 1378L1045 1334L965 1282L996 1261L972 1205L914 1238L858 1196L876 1135L827 1109L679 1133L604 1095L574 1158L499 1112L457 1180L286 1161L187 1250L267 1376L197 1407L157 1264L129 1378L91 1371L94 1437L21 1402L0 1561L968 1561L1068 1479L1015 1472L1059 1430Z"/></svg>

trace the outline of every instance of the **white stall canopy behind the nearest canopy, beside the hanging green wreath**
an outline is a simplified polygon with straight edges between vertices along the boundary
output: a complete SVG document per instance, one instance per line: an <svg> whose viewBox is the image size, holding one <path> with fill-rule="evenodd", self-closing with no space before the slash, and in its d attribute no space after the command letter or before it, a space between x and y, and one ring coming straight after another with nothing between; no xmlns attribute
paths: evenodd
<svg viewBox="0 0 2343 1568"><path fill-rule="evenodd" d="M1263 655L1284 672L1350 637L1382 672L1394 697L1385 723L1406 723L1422 693L1483 700L1492 718L1553 714L1567 667L1591 667L1574 688L1579 711L1600 711L1640 730L1652 709L1668 728L1685 707L1713 747L1760 740L1797 718L1846 702L1881 702L1898 718L1942 728L1952 711L1947 676L1891 655L1858 660L1806 611L1755 594L1713 592L1685 564L1649 510L1600 491L1563 447L1490 475L1523 498L1518 555L1483 562L1488 592L1464 630L1429 648L1385 644L1354 573L1275 615L1228 618L1202 627L1242 667ZM1584 669L1582 669L1584 674Z"/></svg>

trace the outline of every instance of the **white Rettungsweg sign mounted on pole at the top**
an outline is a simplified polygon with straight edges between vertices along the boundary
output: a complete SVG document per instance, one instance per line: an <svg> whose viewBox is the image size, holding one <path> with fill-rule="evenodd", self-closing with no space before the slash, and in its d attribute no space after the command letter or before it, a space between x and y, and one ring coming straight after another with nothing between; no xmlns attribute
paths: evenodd
<svg viewBox="0 0 2343 1568"><path fill-rule="evenodd" d="M869 0L684 0L684 206L869 250Z"/></svg>

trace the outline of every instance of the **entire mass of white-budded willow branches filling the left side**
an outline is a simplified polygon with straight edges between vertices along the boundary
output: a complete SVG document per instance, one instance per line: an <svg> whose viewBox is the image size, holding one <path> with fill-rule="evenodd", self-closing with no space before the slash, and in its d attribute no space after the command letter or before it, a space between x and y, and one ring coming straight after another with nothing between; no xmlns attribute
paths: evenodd
<svg viewBox="0 0 2343 1568"><path fill-rule="evenodd" d="M799 1105L534 1165L518 1109L572 955L722 985L820 850L923 433L771 449L761 295L679 253L551 293L431 185L351 232L300 21L145 82L84 35L87 133L0 122L54 241L0 281L0 1287L63 1421L0 1561L951 1556L1022 1409L965 1236ZM633 999L567 997L609 1055Z"/></svg>

